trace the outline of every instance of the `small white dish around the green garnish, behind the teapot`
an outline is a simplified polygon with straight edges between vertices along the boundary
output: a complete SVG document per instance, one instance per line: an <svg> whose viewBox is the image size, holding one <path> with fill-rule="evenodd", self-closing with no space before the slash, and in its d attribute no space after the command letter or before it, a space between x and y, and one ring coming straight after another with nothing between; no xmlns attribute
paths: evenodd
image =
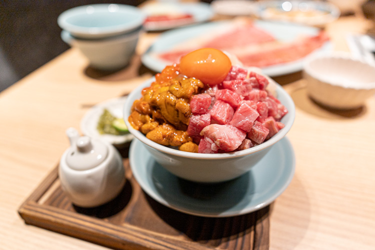
<svg viewBox="0 0 375 250"><path fill-rule="evenodd" d="M124 142L130 141L133 139L132 134L124 135L114 135L114 134L100 134L97 129L97 122L100 115L103 113L104 108L118 117L123 117L123 105L125 103L126 97L118 97L103 101L91 107L83 116L80 122L80 130L84 135L87 135L92 138L102 139L111 144L122 144Z"/></svg>

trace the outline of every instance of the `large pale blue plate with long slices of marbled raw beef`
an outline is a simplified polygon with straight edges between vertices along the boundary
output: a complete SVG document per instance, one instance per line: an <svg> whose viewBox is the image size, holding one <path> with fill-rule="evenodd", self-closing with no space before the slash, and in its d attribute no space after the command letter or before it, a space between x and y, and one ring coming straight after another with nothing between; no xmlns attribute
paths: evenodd
<svg viewBox="0 0 375 250"><path fill-rule="evenodd" d="M202 47L233 54L242 66L259 67L269 76L299 71L307 55L331 50L327 34L318 28L239 18L166 31L141 59L144 65L160 72Z"/></svg>

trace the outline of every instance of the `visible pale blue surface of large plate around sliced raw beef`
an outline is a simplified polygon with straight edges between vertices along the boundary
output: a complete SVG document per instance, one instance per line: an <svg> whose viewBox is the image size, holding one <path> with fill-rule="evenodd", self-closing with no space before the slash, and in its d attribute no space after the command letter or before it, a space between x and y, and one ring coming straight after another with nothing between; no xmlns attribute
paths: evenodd
<svg viewBox="0 0 375 250"><path fill-rule="evenodd" d="M178 43L209 32L213 28L219 28L221 25L227 25L227 23L227 21L217 21L166 31L162 33L142 55L142 63L156 72L161 72L161 70L166 65L171 64L171 62L156 57L156 53L167 52ZM275 39L280 41L291 41L301 34L316 35L320 31L318 28L310 26L262 20L254 21L254 25L266 30L271 35L273 35ZM330 50L331 44L328 41L324 43L320 48L315 49L310 54L320 52L324 53ZM272 66L262 67L261 69L262 72L266 75L277 76L301 70L302 62L303 58L287 63L280 63Z"/></svg>

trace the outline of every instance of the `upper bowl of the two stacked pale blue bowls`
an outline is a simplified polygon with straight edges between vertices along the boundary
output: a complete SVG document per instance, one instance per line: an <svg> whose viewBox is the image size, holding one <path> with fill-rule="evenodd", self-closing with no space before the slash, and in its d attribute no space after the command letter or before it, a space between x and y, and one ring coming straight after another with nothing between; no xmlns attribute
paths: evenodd
<svg viewBox="0 0 375 250"><path fill-rule="evenodd" d="M142 25L144 14L125 4L91 4L68 9L58 18L58 25L79 38L97 39L128 33Z"/></svg>

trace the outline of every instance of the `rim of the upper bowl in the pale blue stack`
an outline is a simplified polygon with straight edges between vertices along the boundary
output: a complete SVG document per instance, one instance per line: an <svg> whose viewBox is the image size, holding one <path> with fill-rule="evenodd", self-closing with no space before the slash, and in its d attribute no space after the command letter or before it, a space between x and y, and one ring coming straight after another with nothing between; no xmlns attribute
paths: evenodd
<svg viewBox="0 0 375 250"><path fill-rule="evenodd" d="M113 26L106 26L106 27L95 27L95 29L90 29L88 27L81 27L78 25L74 25L71 23L66 22L66 19L68 17L76 15L76 11L80 11L83 9L86 9L87 7L93 7L94 12L108 12L104 9L108 9L108 6L114 4L118 6L118 9L114 12L121 12L121 13L133 13L137 15L137 18L135 18L132 21L127 22L126 24L118 24L118 25L113 25ZM65 30L68 30L72 35L75 35L77 37L105 37L109 35L116 35L124 32L131 31L133 29L138 28L143 24L145 15L144 13L135 6L131 5L126 5L126 4L115 4L115 3L110 3L110 4L105 4L105 3L99 3L99 4L88 4L88 5L82 5L82 6L77 6L73 7L70 9L67 9L63 11L58 17L57 17L57 24Z"/></svg>

